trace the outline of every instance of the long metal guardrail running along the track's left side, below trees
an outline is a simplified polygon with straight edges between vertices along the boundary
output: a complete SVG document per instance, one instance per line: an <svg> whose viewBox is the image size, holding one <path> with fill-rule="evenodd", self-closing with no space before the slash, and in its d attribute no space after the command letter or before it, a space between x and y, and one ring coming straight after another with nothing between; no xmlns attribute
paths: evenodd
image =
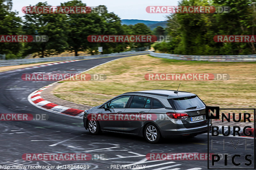
<svg viewBox="0 0 256 170"><path fill-rule="evenodd" d="M101 58L119 55L132 55L132 54L144 54L149 53L149 51L138 51L138 52L122 52L114 54L101 54L101 55L87 55L87 56L72 56L72 57L49 57L49 58L33 58L33 59L19 59L19 60L1 60L0 67L30 64L30 63L40 63L40 62L55 62L55 61L67 61L67 60L83 60L90 58Z"/></svg>

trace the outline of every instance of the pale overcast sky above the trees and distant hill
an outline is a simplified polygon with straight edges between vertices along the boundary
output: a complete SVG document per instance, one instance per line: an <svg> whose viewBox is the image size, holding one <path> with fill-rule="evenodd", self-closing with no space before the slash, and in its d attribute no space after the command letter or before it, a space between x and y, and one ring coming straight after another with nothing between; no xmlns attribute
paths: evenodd
<svg viewBox="0 0 256 170"><path fill-rule="evenodd" d="M69 0L48 0L46 1L51 6L60 5L60 3L68 2ZM18 11L19 16L25 14L21 12L23 6L34 6L38 2L45 2L41 0L12 0L12 11ZM82 0L86 6L106 5L109 12L114 12L121 19L143 19L151 21L164 21L167 14L161 13L147 13L147 6L177 6L178 0Z"/></svg>

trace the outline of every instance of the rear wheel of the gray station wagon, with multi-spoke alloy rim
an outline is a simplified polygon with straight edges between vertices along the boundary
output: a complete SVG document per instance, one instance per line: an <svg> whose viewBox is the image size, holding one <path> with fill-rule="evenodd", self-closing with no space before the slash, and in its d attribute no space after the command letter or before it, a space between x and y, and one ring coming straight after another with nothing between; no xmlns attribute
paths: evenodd
<svg viewBox="0 0 256 170"><path fill-rule="evenodd" d="M144 129L144 137L148 143L156 144L160 141L161 134L155 124L148 123Z"/></svg>

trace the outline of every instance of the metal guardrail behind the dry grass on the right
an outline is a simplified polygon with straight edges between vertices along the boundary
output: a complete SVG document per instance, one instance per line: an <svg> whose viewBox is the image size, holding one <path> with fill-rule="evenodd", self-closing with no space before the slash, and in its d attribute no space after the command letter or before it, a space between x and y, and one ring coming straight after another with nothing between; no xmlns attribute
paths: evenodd
<svg viewBox="0 0 256 170"><path fill-rule="evenodd" d="M210 61L210 62L250 62L256 61L256 55L175 55L155 53L150 51L150 55L159 58L168 58L185 61Z"/></svg>

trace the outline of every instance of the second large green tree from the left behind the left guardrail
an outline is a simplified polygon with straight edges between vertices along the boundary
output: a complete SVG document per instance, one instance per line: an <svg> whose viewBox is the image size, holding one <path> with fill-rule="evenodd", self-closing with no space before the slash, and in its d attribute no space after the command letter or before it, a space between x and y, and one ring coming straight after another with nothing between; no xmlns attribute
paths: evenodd
<svg viewBox="0 0 256 170"><path fill-rule="evenodd" d="M46 2L35 6L50 6ZM26 43L25 54L49 56L64 52L68 47L68 26L65 14L26 14L23 30L28 35L47 35L47 42Z"/></svg>

